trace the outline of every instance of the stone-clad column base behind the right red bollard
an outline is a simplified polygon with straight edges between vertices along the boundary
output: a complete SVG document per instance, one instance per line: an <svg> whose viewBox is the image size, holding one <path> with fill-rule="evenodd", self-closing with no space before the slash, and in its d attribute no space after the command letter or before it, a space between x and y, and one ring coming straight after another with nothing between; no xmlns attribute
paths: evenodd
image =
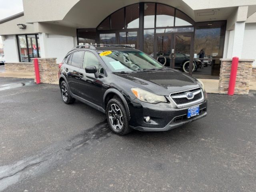
<svg viewBox="0 0 256 192"><path fill-rule="evenodd" d="M231 71L231 59L220 59L220 81L219 81L219 92L227 94L228 84ZM249 83L252 74L252 62L254 60L241 59L238 63L238 70L236 75L236 86L235 94L248 94L249 93Z"/></svg>

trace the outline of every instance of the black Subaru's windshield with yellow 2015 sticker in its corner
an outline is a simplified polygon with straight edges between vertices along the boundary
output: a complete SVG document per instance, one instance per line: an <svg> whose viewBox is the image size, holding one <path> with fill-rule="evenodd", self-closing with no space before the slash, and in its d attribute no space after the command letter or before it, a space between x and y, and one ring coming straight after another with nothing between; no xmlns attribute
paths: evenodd
<svg viewBox="0 0 256 192"><path fill-rule="evenodd" d="M161 70L165 67L138 50L112 50L98 52L112 72L138 72Z"/></svg>

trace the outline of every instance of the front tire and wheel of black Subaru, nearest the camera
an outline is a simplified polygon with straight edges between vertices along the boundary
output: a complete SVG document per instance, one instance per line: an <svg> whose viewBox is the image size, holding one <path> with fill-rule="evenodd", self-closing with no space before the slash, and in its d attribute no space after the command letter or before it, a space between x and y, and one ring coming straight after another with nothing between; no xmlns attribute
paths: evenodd
<svg viewBox="0 0 256 192"><path fill-rule="evenodd" d="M120 98L114 97L108 101L106 116L108 125L115 134L125 135L131 132L128 123L128 115Z"/></svg>

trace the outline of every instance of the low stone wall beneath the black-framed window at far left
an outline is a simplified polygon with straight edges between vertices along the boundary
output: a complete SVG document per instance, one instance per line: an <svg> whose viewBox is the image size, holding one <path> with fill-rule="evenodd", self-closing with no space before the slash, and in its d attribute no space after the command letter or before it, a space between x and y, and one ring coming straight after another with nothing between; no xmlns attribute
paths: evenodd
<svg viewBox="0 0 256 192"><path fill-rule="evenodd" d="M5 63L4 68L6 71L9 72L34 72L34 65L33 63L25 63L25 62L18 62L18 63Z"/></svg>

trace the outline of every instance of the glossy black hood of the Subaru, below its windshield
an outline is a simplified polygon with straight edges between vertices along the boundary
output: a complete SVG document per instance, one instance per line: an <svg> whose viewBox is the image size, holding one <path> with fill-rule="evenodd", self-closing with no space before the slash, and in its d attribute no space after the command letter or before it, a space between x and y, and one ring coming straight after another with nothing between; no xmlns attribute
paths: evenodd
<svg viewBox="0 0 256 192"><path fill-rule="evenodd" d="M130 74L116 74L130 80L134 87L142 88L159 95L199 87L196 79L177 70L142 71Z"/></svg>

